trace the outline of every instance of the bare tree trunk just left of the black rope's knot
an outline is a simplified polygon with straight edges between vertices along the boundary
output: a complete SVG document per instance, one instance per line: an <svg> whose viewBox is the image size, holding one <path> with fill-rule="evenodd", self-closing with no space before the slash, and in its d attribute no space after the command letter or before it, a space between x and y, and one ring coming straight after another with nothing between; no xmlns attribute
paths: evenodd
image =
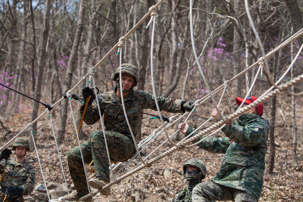
<svg viewBox="0 0 303 202"><path fill-rule="evenodd" d="M34 94L34 99L40 101L41 98L41 84L42 84L42 76L43 76L43 68L45 66L45 55L46 55L46 44L48 40L48 31L49 31L49 16L50 16L50 10L52 6L52 0L47 0L46 1L46 10L45 10L45 18L43 21L43 31L42 31L42 38L41 38L41 45L40 45L40 50L39 50L39 61L38 61L38 70L37 70L37 82L35 83L35 94ZM33 70L32 70L33 71ZM35 79L35 78L34 78ZM35 81L35 80L33 80ZM32 116L31 116L31 121L34 121L37 118L38 115L38 109L39 109L39 103L32 101ZM36 138L36 133L37 133L37 122L33 124L32 126L33 132L34 132L34 138ZM32 138L30 135L29 138L30 145L33 147L33 142Z"/></svg>

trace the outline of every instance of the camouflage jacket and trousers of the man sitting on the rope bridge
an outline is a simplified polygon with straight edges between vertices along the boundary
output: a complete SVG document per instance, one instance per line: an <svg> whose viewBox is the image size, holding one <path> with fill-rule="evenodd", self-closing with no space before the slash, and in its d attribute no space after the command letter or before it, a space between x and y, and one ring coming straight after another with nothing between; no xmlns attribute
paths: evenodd
<svg viewBox="0 0 303 202"><path fill-rule="evenodd" d="M182 100L163 97L157 99L160 110L181 113ZM98 98L86 109L83 121L87 125L95 124L100 120L97 101L99 101L100 111L104 115L105 135L111 160L125 161L134 154L135 145L125 120L121 98L115 94L115 90L98 95ZM157 110L153 96L147 91L131 89L128 95L124 97L124 105L134 135L137 133L140 111L142 109ZM80 108L81 115L83 110L84 106ZM103 132L93 132L89 141L81 144L81 148L86 164L94 160L96 179L110 181L109 162ZM86 178L79 147L69 151L67 159L69 171L78 194L87 194L88 187L85 183Z"/></svg>

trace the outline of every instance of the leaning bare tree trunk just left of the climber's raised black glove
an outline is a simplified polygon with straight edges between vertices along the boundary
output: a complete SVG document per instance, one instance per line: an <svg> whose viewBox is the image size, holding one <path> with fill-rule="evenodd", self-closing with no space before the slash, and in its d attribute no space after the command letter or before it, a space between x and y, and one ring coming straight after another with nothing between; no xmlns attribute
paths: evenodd
<svg viewBox="0 0 303 202"><path fill-rule="evenodd" d="M63 82L63 92L67 92L71 88L72 76L73 76L73 72L74 72L75 63L77 60L78 47L80 44L80 39L81 39L82 31L83 31L83 20L85 17L84 3L85 3L84 0L80 1L79 15L78 15L78 20L77 20L77 29L76 29L76 33L75 33L73 46L72 46L72 51L68 58L68 65L67 65L67 69L66 69L65 80ZM61 102L60 121L58 124L58 139L57 139L58 144L61 144L64 139L65 124L66 124L66 117L67 117L67 105L68 105L67 99L65 99Z"/></svg>

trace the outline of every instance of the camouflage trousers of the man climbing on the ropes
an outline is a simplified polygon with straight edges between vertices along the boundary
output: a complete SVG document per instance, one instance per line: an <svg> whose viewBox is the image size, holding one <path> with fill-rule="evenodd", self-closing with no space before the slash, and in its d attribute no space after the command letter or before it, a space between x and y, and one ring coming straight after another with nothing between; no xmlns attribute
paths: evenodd
<svg viewBox="0 0 303 202"><path fill-rule="evenodd" d="M126 135L105 131L111 161L125 161L135 152L135 145ZM80 145L85 164L94 161L96 179L110 181L109 161L102 131L91 134L88 142ZM82 164L80 149L74 147L67 152L67 162L70 175L79 195L88 194L85 171Z"/></svg>

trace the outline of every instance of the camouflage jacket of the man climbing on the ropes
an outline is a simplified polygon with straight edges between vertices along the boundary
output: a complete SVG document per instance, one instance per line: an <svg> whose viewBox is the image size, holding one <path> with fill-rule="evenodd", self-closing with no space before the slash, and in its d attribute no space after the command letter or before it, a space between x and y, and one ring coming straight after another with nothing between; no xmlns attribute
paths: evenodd
<svg viewBox="0 0 303 202"><path fill-rule="evenodd" d="M158 105L160 110L171 113L182 113L182 100L158 97ZM92 102L86 109L83 121L87 125L92 125L99 121L100 115L98 111L97 100L100 104L101 114L104 114L104 125L106 131L115 131L121 134L130 135L128 124L126 122L122 101L115 94L115 90L98 95L98 99ZM153 96L147 91L134 91L131 89L127 96L123 97L125 111L129 124L133 130L133 134L137 134L138 121L140 111L142 109L157 110ZM84 105L80 108L81 115L84 111Z"/></svg>

